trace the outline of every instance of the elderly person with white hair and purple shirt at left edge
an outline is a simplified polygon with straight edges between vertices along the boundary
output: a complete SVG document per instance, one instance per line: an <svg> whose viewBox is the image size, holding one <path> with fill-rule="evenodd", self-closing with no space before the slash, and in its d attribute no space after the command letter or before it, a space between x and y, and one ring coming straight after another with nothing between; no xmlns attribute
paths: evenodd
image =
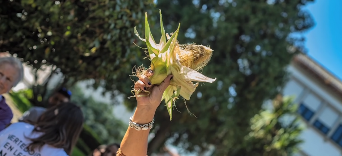
<svg viewBox="0 0 342 156"><path fill-rule="evenodd" d="M24 77L24 68L20 60L14 57L0 57L0 131L11 123L13 113L2 96L8 93Z"/></svg>

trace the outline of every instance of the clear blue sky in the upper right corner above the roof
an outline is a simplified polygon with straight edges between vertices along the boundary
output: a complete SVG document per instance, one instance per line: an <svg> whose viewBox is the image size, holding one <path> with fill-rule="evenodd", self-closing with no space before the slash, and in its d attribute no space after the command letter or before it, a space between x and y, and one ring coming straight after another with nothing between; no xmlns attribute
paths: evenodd
<svg viewBox="0 0 342 156"><path fill-rule="evenodd" d="M316 23L305 33L308 55L342 79L342 0L315 0L304 9Z"/></svg>

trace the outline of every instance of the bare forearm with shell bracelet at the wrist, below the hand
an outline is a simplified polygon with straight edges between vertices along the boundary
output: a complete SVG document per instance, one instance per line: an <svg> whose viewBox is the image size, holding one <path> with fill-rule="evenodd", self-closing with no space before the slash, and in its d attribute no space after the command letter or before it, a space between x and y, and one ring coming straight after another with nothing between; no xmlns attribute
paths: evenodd
<svg viewBox="0 0 342 156"><path fill-rule="evenodd" d="M132 121L137 124L150 123L154 117L155 109L136 108ZM135 130L128 127L121 142L121 152L126 156L146 156L148 130Z"/></svg>

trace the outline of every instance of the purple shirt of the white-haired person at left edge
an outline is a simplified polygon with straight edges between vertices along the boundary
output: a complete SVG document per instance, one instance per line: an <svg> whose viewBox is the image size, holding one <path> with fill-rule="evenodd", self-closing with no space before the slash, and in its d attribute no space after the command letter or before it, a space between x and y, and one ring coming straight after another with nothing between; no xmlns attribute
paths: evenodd
<svg viewBox="0 0 342 156"><path fill-rule="evenodd" d="M11 108L6 104L6 100L0 95L0 131L11 123L13 113Z"/></svg>

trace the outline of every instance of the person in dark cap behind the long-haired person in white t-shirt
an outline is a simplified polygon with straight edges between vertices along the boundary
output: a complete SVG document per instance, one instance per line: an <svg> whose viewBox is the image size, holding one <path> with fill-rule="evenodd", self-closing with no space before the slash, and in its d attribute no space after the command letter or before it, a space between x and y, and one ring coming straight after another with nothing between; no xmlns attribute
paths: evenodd
<svg viewBox="0 0 342 156"><path fill-rule="evenodd" d="M58 105L60 103L69 102L71 98L71 91L66 88L60 88L55 91L48 100L48 108ZM37 122L39 116L46 111L44 107L31 107L24 112L23 116L19 118L19 121L29 120L31 122Z"/></svg>

